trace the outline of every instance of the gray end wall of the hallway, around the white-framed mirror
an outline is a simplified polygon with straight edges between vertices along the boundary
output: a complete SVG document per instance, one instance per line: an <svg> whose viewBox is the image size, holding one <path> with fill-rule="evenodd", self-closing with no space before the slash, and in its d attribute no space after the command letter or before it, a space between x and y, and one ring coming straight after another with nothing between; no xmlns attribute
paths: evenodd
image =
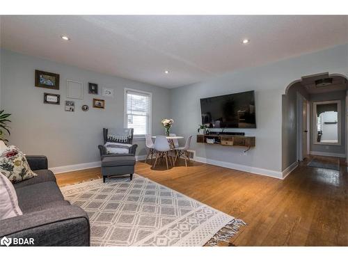
<svg viewBox="0 0 348 261"><path fill-rule="evenodd" d="M345 155L345 143L346 143L346 120L345 120L345 96L346 91L338 91L334 93L317 93L310 95L310 151L314 152L327 152L338 153ZM313 142L313 102L326 102L331 100L341 101L341 145L318 145Z"/></svg>

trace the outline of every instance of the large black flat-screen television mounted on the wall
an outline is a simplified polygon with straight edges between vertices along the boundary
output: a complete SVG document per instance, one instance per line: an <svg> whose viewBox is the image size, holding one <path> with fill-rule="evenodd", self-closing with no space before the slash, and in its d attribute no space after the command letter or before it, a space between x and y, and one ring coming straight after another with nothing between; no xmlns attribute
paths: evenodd
<svg viewBox="0 0 348 261"><path fill-rule="evenodd" d="M210 128L255 128L254 91L200 99L202 124Z"/></svg>

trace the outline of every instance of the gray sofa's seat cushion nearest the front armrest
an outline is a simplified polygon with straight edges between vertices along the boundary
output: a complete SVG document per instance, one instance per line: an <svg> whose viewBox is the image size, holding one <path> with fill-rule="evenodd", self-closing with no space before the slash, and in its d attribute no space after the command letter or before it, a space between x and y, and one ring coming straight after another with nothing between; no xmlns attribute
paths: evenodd
<svg viewBox="0 0 348 261"><path fill-rule="evenodd" d="M56 182L42 182L16 189L18 204L22 212L31 212L52 201L64 200Z"/></svg>

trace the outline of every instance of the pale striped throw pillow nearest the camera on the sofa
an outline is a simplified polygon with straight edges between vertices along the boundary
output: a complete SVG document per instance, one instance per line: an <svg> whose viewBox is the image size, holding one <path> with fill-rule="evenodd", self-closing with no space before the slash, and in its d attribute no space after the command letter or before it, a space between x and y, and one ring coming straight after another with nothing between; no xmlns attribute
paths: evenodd
<svg viewBox="0 0 348 261"><path fill-rule="evenodd" d="M0 173L0 220L22 215L13 184Z"/></svg>

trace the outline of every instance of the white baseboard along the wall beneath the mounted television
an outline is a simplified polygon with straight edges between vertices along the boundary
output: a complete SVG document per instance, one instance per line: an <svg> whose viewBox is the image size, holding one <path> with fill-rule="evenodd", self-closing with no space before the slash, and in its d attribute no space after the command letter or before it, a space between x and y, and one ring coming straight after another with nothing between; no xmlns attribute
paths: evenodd
<svg viewBox="0 0 348 261"><path fill-rule="evenodd" d="M206 164L212 164L216 166L221 166L224 168L232 168L237 171L246 171L258 175L264 175L267 177L276 177L280 180L283 180L283 173L281 171L271 171L265 168L256 168L252 166L246 166L246 165L241 165L241 164L235 164L235 163L230 163L226 161L217 161L214 159L207 159L203 157L195 157L195 161L206 163Z"/></svg>

